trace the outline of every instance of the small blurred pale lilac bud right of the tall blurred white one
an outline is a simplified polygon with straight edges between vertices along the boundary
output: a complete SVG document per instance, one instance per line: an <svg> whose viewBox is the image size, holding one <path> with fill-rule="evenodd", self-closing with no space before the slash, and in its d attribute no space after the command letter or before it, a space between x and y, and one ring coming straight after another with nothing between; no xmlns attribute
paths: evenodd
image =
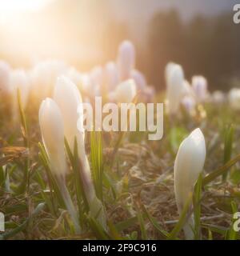
<svg viewBox="0 0 240 256"><path fill-rule="evenodd" d="M192 86L195 97L198 102L204 102L207 98L207 81L202 75L196 75L192 78Z"/></svg>

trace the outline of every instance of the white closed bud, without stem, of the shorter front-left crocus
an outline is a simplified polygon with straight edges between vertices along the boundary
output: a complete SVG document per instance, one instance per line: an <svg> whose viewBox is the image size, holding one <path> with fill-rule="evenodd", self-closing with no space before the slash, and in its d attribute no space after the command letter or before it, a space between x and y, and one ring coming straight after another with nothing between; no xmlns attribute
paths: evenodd
<svg viewBox="0 0 240 256"><path fill-rule="evenodd" d="M39 109L42 141L50 159L51 170L56 176L66 174L64 153L64 130L61 111L51 98L46 98Z"/></svg>

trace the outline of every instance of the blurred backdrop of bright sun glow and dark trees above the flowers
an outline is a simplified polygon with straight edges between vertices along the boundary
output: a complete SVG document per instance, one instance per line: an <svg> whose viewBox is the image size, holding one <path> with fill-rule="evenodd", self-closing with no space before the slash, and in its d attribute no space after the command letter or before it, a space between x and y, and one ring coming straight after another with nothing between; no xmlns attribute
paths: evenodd
<svg viewBox="0 0 240 256"><path fill-rule="evenodd" d="M234 0L0 0L0 58L28 67L63 59L87 71L115 60L130 39L137 67L164 89L167 62L186 78L202 74L210 90L238 86L240 24Z"/></svg>

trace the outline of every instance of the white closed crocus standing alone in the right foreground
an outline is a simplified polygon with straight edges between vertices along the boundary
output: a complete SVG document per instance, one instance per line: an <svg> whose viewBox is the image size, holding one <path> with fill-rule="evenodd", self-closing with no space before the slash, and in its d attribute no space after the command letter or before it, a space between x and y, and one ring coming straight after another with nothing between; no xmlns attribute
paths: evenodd
<svg viewBox="0 0 240 256"><path fill-rule="evenodd" d="M202 172L205 158L205 138L198 128L181 143L174 163L174 190L179 214L182 213L190 193L194 190L194 184ZM186 239L194 238L193 225L194 220L191 217L183 228Z"/></svg>

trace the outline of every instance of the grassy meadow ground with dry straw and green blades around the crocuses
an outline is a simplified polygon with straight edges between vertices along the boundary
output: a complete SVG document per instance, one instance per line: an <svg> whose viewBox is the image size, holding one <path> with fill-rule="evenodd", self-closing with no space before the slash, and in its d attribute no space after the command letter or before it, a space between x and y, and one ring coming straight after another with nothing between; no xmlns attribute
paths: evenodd
<svg viewBox="0 0 240 256"><path fill-rule="evenodd" d="M158 102L161 101L159 97ZM86 133L86 152L98 198L106 207L107 229L88 214L70 159L67 187L79 210L81 234L74 234L61 195L44 158L38 110L28 104L22 126L10 121L1 102L0 211L2 239L178 239L184 218L174 198L174 159L194 128L206 139L206 162L194 193L195 238L238 239L233 214L240 202L240 117L227 103L198 106L192 118L164 117L160 141L146 133ZM6 108L5 108L6 107ZM26 122L25 122L26 118ZM210 175L207 177L207 175ZM202 189L199 189L202 187Z"/></svg>

